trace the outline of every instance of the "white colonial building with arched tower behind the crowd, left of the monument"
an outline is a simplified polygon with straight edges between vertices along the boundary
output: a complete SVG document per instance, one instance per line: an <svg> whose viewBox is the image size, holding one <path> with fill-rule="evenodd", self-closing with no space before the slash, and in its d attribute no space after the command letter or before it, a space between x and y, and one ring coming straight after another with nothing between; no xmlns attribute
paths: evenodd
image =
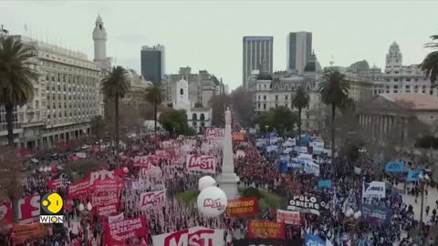
<svg viewBox="0 0 438 246"><path fill-rule="evenodd" d="M203 128L210 127L212 124L212 108L194 108L189 99L189 83L185 79L180 79L175 85L175 94L172 102L173 108L185 110L188 124L197 132L202 132Z"/></svg>

